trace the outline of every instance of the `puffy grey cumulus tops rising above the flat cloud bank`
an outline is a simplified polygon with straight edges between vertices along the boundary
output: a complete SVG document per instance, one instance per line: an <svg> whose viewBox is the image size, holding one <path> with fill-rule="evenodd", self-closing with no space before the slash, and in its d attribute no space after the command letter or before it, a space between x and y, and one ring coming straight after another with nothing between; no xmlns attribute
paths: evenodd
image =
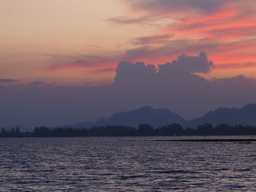
<svg viewBox="0 0 256 192"><path fill-rule="evenodd" d="M171 63L161 64L158 69L154 65L146 65L143 62L135 64L121 62L116 68L115 83L117 85L126 85L130 83L157 82L162 77L198 77L195 73L208 73L214 69L214 63L208 61L205 52L197 56L181 55L177 60ZM132 77L132 78L131 78Z"/></svg>

